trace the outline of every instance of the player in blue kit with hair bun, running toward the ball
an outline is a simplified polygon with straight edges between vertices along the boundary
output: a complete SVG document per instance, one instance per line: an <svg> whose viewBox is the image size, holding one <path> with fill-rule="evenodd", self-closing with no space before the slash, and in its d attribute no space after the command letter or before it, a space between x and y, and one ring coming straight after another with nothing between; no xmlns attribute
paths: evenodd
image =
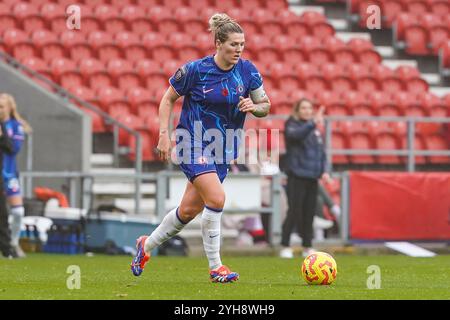
<svg viewBox="0 0 450 320"><path fill-rule="evenodd" d="M202 213L202 237L213 282L232 282L236 272L222 264L220 258L220 220L225 203L222 182L231 160L237 158L239 139L226 139L227 130L242 129L246 113L264 117L270 101L256 67L241 59L244 32L226 14L214 14L209 20L217 49L215 55L182 66L170 78L159 107L160 136L157 149L163 160L170 154L169 118L175 101L185 96L177 126L177 156L180 168L189 182L181 204L170 211L150 236L137 239L137 254L131 270L139 276L150 258L150 252L180 232ZM179 132L188 133L180 137ZM220 148L209 152L205 133L219 133ZM235 143L233 143L235 142Z"/></svg>

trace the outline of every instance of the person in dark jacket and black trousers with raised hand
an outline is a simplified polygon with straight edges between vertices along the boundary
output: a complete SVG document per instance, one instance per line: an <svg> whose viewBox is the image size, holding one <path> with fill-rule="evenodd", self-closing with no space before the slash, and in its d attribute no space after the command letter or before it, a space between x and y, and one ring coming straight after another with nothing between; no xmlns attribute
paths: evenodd
<svg viewBox="0 0 450 320"><path fill-rule="evenodd" d="M301 99L294 104L292 114L285 124L286 173L288 212L283 223L280 256L293 258L289 246L294 228L302 237L303 255L312 249L313 218L316 212L318 180L330 179L325 173L326 156L318 125L323 123L325 108L321 106L314 115L313 104Z"/></svg>

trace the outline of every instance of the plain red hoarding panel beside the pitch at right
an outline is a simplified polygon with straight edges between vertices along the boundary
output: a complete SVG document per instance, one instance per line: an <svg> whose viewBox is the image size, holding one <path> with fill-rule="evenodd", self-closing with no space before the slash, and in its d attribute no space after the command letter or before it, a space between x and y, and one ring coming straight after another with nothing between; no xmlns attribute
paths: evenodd
<svg viewBox="0 0 450 320"><path fill-rule="evenodd" d="M450 174L351 172L350 238L450 240Z"/></svg>

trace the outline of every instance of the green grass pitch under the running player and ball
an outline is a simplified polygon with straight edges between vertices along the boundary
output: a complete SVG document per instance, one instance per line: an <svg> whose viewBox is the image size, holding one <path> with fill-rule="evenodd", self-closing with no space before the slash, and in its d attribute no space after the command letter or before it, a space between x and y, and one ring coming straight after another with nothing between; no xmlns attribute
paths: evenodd
<svg viewBox="0 0 450 320"><path fill-rule="evenodd" d="M30 254L26 259L0 260L0 299L450 299L450 255L335 259L336 282L308 286L300 276L301 258L224 257L241 278L213 284L206 258L201 257L155 257L140 277L134 277L131 257ZM80 289L67 288L70 265L80 267ZM367 289L370 265L380 267L380 289Z"/></svg>

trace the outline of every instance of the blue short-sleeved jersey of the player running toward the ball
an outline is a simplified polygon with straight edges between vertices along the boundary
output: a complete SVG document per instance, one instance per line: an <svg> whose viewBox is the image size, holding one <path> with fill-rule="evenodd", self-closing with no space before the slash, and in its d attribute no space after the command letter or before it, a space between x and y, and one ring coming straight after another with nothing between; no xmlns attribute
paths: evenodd
<svg viewBox="0 0 450 320"><path fill-rule="evenodd" d="M227 141L226 135L231 131L227 132L228 129L244 126L246 113L238 109L239 97L248 98L250 92L263 85L261 74L253 63L239 59L232 69L225 71L217 66L213 56L207 56L179 68L169 82L180 96L184 96L177 129L187 130L191 136L191 146L195 150L191 160L202 156L199 152L204 152L210 143L205 141L208 140L205 132L209 129L222 134L223 159L237 158L240 139ZM179 142L177 139L177 146ZM194 148L194 144L200 145L201 150Z"/></svg>

